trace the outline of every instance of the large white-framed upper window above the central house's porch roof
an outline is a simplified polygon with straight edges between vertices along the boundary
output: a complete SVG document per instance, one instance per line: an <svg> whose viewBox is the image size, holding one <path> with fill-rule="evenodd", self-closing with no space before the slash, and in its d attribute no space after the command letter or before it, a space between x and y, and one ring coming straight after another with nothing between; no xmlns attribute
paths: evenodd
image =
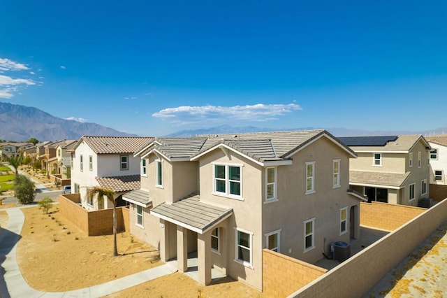
<svg viewBox="0 0 447 298"><path fill-rule="evenodd" d="M214 193L226 197L242 197L242 166L214 164Z"/></svg>

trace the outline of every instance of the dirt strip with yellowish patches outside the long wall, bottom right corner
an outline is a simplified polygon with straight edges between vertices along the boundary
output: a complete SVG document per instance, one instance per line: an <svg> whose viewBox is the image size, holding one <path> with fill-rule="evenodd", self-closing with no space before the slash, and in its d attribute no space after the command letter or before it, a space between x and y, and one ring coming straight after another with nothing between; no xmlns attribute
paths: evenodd
<svg viewBox="0 0 447 298"><path fill-rule="evenodd" d="M364 297L445 297L447 222Z"/></svg>

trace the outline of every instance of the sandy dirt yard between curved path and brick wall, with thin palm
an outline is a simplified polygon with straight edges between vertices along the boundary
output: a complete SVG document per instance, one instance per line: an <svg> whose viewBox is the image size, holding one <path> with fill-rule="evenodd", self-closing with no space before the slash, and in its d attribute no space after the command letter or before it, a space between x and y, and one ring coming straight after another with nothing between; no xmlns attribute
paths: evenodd
<svg viewBox="0 0 447 298"><path fill-rule="evenodd" d="M37 207L22 208L25 222L17 246L22 274L36 290L60 292L112 281L162 264L155 249L129 233L117 235L118 257L112 256L112 235L87 236L59 212L45 215Z"/></svg>

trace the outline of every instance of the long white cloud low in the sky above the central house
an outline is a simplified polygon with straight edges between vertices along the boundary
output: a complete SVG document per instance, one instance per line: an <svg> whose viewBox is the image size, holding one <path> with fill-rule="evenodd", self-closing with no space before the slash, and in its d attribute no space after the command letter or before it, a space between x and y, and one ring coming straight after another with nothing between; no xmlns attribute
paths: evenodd
<svg viewBox="0 0 447 298"><path fill-rule="evenodd" d="M168 119L172 124L185 125L213 120L270 121L301 110L298 104L254 104L247 106L179 106L165 108L152 117Z"/></svg>

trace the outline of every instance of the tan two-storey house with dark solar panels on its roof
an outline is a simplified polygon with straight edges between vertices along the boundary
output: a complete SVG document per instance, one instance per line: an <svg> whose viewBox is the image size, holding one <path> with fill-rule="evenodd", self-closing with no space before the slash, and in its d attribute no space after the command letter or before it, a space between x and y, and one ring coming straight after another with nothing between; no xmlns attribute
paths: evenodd
<svg viewBox="0 0 447 298"><path fill-rule="evenodd" d="M340 137L357 154L349 184L369 201L418 206L429 197L430 145L421 135Z"/></svg>

